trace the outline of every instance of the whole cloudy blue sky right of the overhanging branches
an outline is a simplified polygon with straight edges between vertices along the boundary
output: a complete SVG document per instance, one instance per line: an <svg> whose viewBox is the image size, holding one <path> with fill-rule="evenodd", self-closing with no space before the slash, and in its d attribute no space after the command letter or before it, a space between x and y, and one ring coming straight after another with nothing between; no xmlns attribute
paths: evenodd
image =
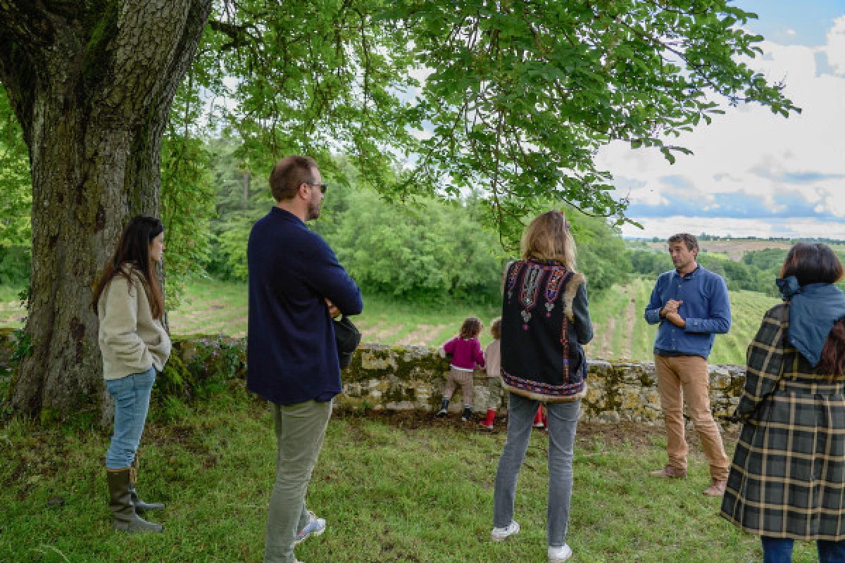
<svg viewBox="0 0 845 563"><path fill-rule="evenodd" d="M845 0L737 0L766 37L751 64L803 112L783 119L755 106L726 108L679 139L694 155L662 155L615 143L598 164L613 172L628 236L681 230L733 236L845 240Z"/></svg>

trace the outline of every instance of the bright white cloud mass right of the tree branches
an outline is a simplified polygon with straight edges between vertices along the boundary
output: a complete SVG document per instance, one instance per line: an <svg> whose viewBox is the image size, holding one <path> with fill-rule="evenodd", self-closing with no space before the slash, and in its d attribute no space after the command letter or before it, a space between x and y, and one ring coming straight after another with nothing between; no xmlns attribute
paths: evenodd
<svg viewBox="0 0 845 563"><path fill-rule="evenodd" d="M689 201L701 202L702 209L707 205L712 214L715 195L744 192L750 199L749 209L768 212L787 207L784 202L790 197L794 200L799 192L817 213L834 214L842 223L803 220L793 226L805 232L792 235L845 238L845 14L834 20L824 46L765 41L762 47L765 60L758 57L750 64L770 81L785 80L785 93L802 108L800 115L784 119L759 106L726 108L727 114L714 117L710 126L673 139L694 152L692 156L679 155L675 165L669 165L658 151L633 150L626 143L602 149L597 165L612 171L619 196L630 192L630 200L636 204L666 204L667 197L677 200L685 194ZM818 53L826 56L827 70L834 73L819 72ZM668 185L662 181L666 176L682 178L692 187L679 187L677 182ZM671 234L695 220L646 222ZM667 226L673 222L675 227ZM737 219L706 218L701 219L701 231L739 235L741 228L747 235L778 236L782 227L766 221L741 223L740 227ZM691 226L690 230L696 232ZM641 231L626 234L637 232Z"/></svg>

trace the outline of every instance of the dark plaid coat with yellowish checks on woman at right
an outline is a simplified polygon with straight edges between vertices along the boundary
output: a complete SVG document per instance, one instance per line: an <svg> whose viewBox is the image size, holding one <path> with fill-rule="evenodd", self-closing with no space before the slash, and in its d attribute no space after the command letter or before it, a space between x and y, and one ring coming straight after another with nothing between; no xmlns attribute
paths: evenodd
<svg viewBox="0 0 845 563"><path fill-rule="evenodd" d="M721 516L749 533L845 539L845 380L815 373L774 306L751 342Z"/></svg>

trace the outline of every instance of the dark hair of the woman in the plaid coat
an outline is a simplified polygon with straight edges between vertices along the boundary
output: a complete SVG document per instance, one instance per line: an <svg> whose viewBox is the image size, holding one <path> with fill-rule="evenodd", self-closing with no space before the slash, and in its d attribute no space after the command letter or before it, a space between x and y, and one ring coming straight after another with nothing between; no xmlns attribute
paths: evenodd
<svg viewBox="0 0 845 563"><path fill-rule="evenodd" d="M842 262L823 242L796 243L789 249L781 268L782 278L795 276L799 285L835 284L843 273ZM845 375L845 318L839 319L828 333L815 371L834 377Z"/></svg>

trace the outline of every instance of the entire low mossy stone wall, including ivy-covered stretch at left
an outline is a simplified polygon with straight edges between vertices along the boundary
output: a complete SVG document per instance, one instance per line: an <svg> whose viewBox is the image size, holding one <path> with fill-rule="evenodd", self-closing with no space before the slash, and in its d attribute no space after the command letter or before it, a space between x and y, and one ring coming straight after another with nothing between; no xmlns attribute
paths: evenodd
<svg viewBox="0 0 845 563"><path fill-rule="evenodd" d="M0 391L5 389L11 377L10 356L14 342L12 331L0 329ZM198 350L204 350L204 360L198 364L200 371L215 371L224 365L231 369L233 376L243 377L245 345L243 338L218 341L201 337L177 338L166 373L156 383L157 392L179 392L181 387L174 387L173 382L184 382L191 376L185 365ZM221 360L227 355L233 355L232 361ZM581 402L582 420L662 424L653 362L591 360L588 365L588 391ZM172 374L173 370L177 371L176 376ZM449 361L441 358L436 349L365 344L356 350L352 365L343 371L344 392L335 399L335 405L338 409L436 410L448 373ZM733 414L739 401L744 366L711 365L710 383L713 414L717 420L723 420ZM460 412L462 403L461 387L458 387L450 410ZM476 373L472 403L477 412L488 408L488 378L483 372ZM498 409L504 410L506 406L505 394Z"/></svg>

